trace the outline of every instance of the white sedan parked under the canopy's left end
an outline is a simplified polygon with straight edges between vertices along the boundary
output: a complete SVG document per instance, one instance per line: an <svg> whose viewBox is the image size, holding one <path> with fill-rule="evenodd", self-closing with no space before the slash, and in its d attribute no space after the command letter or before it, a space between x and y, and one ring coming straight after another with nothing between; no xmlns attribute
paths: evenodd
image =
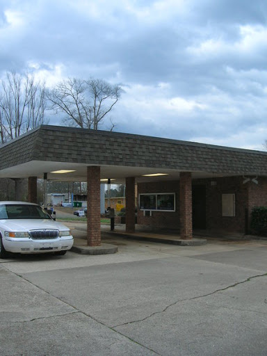
<svg viewBox="0 0 267 356"><path fill-rule="evenodd" d="M0 258L9 252L63 255L73 245L70 229L38 204L0 202Z"/></svg>

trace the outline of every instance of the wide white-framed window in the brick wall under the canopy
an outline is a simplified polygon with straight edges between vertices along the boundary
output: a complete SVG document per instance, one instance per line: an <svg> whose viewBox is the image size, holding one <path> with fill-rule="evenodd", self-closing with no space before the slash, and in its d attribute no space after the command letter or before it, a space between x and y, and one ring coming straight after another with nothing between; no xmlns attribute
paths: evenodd
<svg viewBox="0 0 267 356"><path fill-rule="evenodd" d="M139 195L140 210L175 211L175 193Z"/></svg>

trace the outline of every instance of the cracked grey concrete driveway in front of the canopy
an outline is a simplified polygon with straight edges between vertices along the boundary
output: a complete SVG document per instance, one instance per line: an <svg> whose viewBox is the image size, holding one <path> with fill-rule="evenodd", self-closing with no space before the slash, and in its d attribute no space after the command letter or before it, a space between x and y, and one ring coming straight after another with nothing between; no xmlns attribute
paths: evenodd
<svg viewBox="0 0 267 356"><path fill-rule="evenodd" d="M267 355L267 241L109 242L1 261L0 355Z"/></svg>

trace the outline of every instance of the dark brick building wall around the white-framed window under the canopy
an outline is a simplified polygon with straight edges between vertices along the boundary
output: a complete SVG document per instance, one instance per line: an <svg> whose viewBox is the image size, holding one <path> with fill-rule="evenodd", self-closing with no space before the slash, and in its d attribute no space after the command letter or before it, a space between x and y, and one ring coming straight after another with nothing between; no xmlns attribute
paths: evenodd
<svg viewBox="0 0 267 356"><path fill-rule="evenodd" d="M243 177L222 177L214 179L194 179L192 185L202 185L206 189L206 229L217 232L245 233L246 209L249 217L252 207L267 207L267 178L259 177L259 184L251 181L243 184ZM152 216L143 216L138 209L138 224L152 227L179 229L179 181L162 181L138 184L140 193L175 193L176 211L152 211ZM235 216L223 216L222 195L235 194ZM250 219L249 219L250 220ZM250 221L248 221L249 226Z"/></svg>

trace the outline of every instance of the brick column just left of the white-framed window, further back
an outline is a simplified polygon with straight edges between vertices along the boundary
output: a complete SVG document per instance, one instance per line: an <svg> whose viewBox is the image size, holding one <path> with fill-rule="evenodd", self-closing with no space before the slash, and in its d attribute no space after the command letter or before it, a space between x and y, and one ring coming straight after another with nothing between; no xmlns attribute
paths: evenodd
<svg viewBox="0 0 267 356"><path fill-rule="evenodd" d="M135 179L128 177L125 179L125 200L126 200L126 213L125 213L125 230L126 232L135 232L136 225L136 202L135 202Z"/></svg>

